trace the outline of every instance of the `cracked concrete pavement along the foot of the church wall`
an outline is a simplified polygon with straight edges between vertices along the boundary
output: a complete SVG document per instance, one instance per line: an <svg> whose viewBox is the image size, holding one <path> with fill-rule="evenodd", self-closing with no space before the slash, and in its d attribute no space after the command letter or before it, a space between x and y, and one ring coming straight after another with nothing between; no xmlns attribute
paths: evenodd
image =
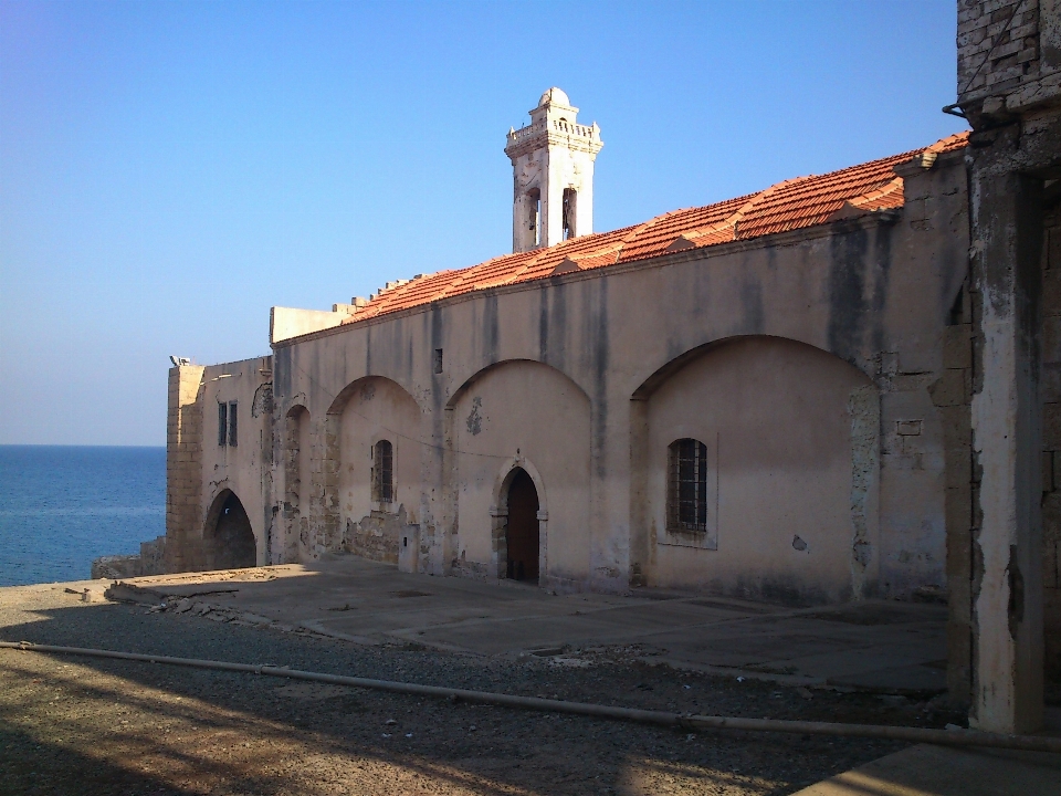
<svg viewBox="0 0 1061 796"><path fill-rule="evenodd" d="M212 618L360 643L576 657L590 647L630 646L631 654L679 668L779 682L911 695L945 688L946 608L938 605L792 609L660 589L556 595L511 580L403 574L353 556L128 583L148 589L148 599L213 606Z"/></svg>

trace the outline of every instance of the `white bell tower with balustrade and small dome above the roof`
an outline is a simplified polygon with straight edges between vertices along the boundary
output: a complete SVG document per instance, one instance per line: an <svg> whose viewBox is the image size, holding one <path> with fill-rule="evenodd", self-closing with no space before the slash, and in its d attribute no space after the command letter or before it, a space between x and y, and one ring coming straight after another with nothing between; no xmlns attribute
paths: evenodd
<svg viewBox="0 0 1061 796"><path fill-rule="evenodd" d="M508 130L512 159L512 250L530 251L593 231L593 160L600 127L576 124L578 108L549 88L530 124Z"/></svg>

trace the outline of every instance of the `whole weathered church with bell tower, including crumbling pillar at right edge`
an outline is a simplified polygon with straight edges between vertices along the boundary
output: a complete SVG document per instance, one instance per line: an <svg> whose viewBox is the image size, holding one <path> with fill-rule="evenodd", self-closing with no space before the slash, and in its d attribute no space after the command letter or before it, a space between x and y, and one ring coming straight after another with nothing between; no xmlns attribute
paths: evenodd
<svg viewBox="0 0 1061 796"><path fill-rule="evenodd" d="M952 695L1033 726L1044 638L1061 669L1058 3L959 10L971 135L611 232L600 129L547 91L507 136L513 253L274 307L271 356L170 370L167 566L946 599Z"/></svg>

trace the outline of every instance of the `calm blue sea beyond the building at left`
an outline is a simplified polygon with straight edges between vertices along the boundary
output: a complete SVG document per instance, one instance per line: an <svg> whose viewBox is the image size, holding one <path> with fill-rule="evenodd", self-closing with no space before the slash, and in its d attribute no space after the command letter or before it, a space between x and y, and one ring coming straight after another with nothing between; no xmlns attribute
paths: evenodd
<svg viewBox="0 0 1061 796"><path fill-rule="evenodd" d="M0 446L0 586L84 580L165 533L165 448Z"/></svg>

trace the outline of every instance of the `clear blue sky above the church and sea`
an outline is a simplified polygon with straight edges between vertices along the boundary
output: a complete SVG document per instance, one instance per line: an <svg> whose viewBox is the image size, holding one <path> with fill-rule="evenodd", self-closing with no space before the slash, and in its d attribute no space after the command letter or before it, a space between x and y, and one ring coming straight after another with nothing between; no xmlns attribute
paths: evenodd
<svg viewBox="0 0 1061 796"><path fill-rule="evenodd" d="M169 354L505 253L551 85L601 126L598 231L931 144L955 13L0 0L0 443L164 444Z"/></svg>

